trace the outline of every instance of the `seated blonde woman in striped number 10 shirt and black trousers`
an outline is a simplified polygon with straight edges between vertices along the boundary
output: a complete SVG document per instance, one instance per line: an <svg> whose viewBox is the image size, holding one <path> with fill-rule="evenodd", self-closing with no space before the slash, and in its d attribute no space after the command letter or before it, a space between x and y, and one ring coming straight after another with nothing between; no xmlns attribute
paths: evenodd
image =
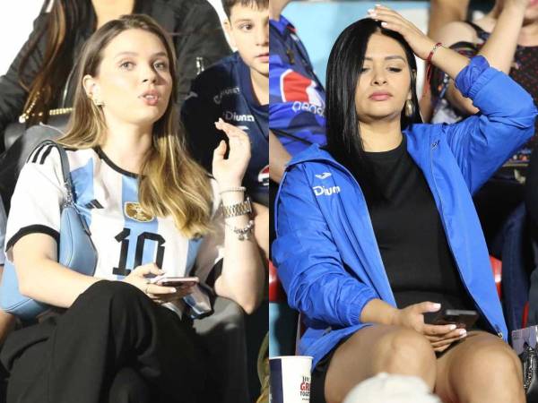
<svg viewBox="0 0 538 403"><path fill-rule="evenodd" d="M240 187L247 135L216 123L230 151L224 159L223 141L214 151L214 180L190 159L176 122L174 60L168 37L141 15L109 21L82 51L74 115L59 142L98 253L93 277L56 262L65 198L57 150L38 148L22 169L7 257L22 294L61 311L6 340L8 402L195 402L205 363L188 313L207 311L208 288L247 313L259 303L263 264ZM201 285L149 283L164 273L196 275Z"/></svg>

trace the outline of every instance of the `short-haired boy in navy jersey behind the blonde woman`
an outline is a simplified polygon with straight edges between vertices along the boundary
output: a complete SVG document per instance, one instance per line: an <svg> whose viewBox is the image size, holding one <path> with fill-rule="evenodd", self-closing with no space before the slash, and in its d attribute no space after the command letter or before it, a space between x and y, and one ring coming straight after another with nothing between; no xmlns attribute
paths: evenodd
<svg viewBox="0 0 538 403"><path fill-rule="evenodd" d="M254 201L256 240L269 256L269 1L223 0L224 28L238 51L196 77L181 116L195 159L211 172L225 136L221 118L248 134L251 159L243 185Z"/></svg>

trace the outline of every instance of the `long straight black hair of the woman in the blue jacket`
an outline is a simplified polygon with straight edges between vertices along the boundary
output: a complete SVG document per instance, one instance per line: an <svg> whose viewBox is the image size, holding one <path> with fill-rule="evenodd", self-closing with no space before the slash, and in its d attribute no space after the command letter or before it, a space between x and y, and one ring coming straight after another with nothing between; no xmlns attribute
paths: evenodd
<svg viewBox="0 0 538 403"><path fill-rule="evenodd" d="M375 192L372 184L372 169L364 158L364 148L360 137L359 116L355 108L355 90L360 69L370 36L380 32L395 39L404 47L405 57L411 72L412 116L400 118L402 129L410 124L422 123L419 99L416 93L417 64L412 48L404 37L394 30L385 30L380 22L365 18L353 22L340 34L329 56L326 75L326 149L344 167L350 169L365 191Z"/></svg>

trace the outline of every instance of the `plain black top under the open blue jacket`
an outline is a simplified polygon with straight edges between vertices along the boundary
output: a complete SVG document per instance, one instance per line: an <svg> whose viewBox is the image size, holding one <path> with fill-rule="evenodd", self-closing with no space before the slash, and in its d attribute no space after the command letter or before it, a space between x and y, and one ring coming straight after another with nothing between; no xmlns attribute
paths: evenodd
<svg viewBox="0 0 538 403"><path fill-rule="evenodd" d="M407 152L367 152L378 197L365 193L370 218L396 304L431 301L443 308L475 309L447 243L435 200ZM432 316L427 315L430 322Z"/></svg>

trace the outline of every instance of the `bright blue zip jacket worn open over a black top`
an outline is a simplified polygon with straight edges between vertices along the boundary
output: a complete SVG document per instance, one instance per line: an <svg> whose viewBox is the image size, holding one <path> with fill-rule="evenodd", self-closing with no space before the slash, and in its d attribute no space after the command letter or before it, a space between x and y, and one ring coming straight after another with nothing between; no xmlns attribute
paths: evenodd
<svg viewBox="0 0 538 403"><path fill-rule="evenodd" d="M473 57L456 77L480 114L456 124L413 124L407 150L438 207L457 270L491 330L508 330L491 275L472 194L534 133L531 96L505 73ZM343 338L371 323L360 313L373 298L395 306L369 210L351 173L313 145L291 159L275 201L273 262L288 303L307 330L300 354L314 365Z"/></svg>

